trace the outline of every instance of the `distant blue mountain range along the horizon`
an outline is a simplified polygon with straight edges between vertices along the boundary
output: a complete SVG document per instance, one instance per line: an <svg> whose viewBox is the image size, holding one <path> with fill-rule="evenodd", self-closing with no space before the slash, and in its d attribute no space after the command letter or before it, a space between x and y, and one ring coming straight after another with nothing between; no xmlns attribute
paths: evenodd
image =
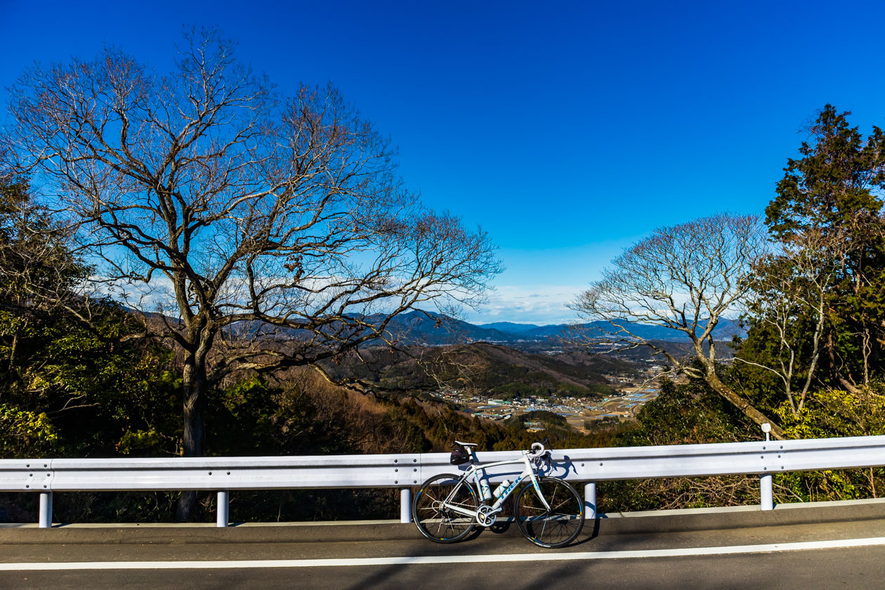
<svg viewBox="0 0 885 590"><path fill-rule="evenodd" d="M371 318L371 317L370 317ZM379 318L380 319L380 318ZM685 333L664 326L650 326L624 322L624 326L636 336L655 341L688 341ZM610 330L605 321L596 321L581 325L589 330ZM393 318L388 330L398 340L409 344L442 345L453 342L495 342L512 344L525 341L547 341L566 335L573 326L568 324L551 324L536 326L534 324L516 324L512 322L496 322L479 326L432 312L410 311ZM743 336L745 331L735 321L720 318L713 329L713 339L730 341L735 335Z"/></svg>

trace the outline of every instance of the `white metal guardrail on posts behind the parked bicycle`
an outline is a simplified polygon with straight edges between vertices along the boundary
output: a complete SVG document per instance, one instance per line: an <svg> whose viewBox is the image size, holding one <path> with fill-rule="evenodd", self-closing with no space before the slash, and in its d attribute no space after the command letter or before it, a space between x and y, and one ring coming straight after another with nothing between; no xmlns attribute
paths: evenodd
<svg viewBox="0 0 885 590"><path fill-rule="evenodd" d="M517 451L480 452L482 462L518 458ZM772 475L885 465L885 436L804 441L753 441L665 447L556 450L550 474L588 482L585 500L596 515L596 482L758 474L762 510L773 509ZM506 470L507 468L502 468ZM173 459L2 459L0 491L40 494L40 526L51 523L54 492L212 490L217 524L227 526L230 490L396 487L401 520L411 519L411 488L458 467L448 453L339 456L191 457ZM500 480L509 471L489 473Z"/></svg>

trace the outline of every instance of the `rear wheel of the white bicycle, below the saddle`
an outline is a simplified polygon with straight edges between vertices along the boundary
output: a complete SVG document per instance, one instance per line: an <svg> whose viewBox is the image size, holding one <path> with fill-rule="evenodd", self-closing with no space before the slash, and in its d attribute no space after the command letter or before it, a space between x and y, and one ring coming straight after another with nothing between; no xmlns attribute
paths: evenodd
<svg viewBox="0 0 885 590"><path fill-rule="evenodd" d="M464 539L476 525L474 517L443 506L443 501L449 498L449 504L466 510L475 511L478 508L479 502L473 487L459 479L461 476L450 473L435 475L421 485L412 500L415 525L422 535L435 543L454 543Z"/></svg>

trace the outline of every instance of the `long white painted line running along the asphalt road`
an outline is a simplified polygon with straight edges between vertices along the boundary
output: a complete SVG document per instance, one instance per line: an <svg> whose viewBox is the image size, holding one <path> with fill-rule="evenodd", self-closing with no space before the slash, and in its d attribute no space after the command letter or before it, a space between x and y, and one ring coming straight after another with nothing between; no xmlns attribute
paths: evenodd
<svg viewBox="0 0 885 590"><path fill-rule="evenodd" d="M358 557L352 559L266 559L250 561L206 562L56 562L0 563L0 571L46 570L232 570L242 568L316 568L372 565L419 565L425 563L490 563L490 562L563 562L586 559L637 559L642 557L725 556L745 553L776 553L877 547L885 545L885 537L868 539L811 540L797 543L768 543L732 547L698 547L681 549L645 549L636 551L584 551L581 553L516 553L485 556L403 556Z"/></svg>

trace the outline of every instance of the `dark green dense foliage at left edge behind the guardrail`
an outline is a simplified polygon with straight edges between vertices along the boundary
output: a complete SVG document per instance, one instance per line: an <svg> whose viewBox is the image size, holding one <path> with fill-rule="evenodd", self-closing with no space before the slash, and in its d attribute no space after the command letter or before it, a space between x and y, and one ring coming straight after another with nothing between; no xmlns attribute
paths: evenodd
<svg viewBox="0 0 885 590"><path fill-rule="evenodd" d="M26 183L5 183L0 199L2 455L174 452L171 352L127 341L131 314L74 293L89 269Z"/></svg>

